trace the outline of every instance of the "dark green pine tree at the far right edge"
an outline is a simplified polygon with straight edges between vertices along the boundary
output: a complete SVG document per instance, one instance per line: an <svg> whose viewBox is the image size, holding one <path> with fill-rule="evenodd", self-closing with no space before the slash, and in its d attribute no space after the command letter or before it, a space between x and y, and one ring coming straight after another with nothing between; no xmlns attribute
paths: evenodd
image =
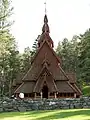
<svg viewBox="0 0 90 120"><path fill-rule="evenodd" d="M90 29L80 35L79 69L83 81L90 83Z"/></svg>

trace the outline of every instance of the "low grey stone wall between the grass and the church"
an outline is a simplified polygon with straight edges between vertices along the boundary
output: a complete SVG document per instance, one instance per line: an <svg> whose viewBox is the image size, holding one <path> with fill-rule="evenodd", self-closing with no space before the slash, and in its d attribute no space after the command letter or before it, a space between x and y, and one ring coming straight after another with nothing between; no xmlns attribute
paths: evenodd
<svg viewBox="0 0 90 120"><path fill-rule="evenodd" d="M74 108L90 108L90 97L47 100L0 99L0 112Z"/></svg>

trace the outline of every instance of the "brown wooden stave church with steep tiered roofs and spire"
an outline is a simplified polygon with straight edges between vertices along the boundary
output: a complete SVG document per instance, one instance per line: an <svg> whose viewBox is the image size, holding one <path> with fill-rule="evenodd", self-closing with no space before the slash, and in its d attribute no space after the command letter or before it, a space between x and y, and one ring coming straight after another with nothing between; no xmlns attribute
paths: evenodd
<svg viewBox="0 0 90 120"><path fill-rule="evenodd" d="M76 98L81 91L76 85L74 74L67 74L61 67L61 60L53 50L48 18L45 14L42 34L38 40L38 49L32 60L31 67L14 86L14 94L25 98Z"/></svg>

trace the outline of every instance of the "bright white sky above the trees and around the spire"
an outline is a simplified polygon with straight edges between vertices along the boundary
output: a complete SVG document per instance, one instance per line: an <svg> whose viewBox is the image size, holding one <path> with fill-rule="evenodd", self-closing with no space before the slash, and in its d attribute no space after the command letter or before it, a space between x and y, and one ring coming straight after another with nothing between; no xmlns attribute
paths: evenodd
<svg viewBox="0 0 90 120"><path fill-rule="evenodd" d="M90 28L90 0L12 0L14 7L11 33L15 37L20 52L30 47L42 33L47 3L48 24L54 46L64 38L83 34Z"/></svg>

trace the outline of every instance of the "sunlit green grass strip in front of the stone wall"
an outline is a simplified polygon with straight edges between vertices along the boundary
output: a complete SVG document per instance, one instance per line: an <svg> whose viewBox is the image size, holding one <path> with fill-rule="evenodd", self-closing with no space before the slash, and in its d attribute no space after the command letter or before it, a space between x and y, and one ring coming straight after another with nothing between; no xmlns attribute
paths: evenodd
<svg viewBox="0 0 90 120"><path fill-rule="evenodd" d="M0 120L90 120L90 109L1 113Z"/></svg>

